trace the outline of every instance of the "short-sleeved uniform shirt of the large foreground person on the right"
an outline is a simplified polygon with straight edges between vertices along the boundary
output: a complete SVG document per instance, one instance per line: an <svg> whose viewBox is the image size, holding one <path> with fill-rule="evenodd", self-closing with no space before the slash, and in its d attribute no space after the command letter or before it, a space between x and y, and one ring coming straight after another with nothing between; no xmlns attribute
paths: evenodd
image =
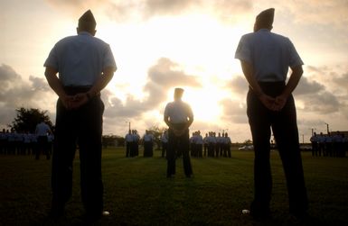
<svg viewBox="0 0 348 226"><path fill-rule="evenodd" d="M287 37L268 29L243 35L235 59L250 63L259 82L285 81L288 67L304 64Z"/></svg>

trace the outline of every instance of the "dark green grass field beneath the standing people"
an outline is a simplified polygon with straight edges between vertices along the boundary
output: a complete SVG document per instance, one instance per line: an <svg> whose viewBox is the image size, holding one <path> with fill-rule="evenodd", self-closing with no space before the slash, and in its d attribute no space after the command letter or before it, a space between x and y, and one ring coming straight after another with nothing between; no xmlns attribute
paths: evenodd
<svg viewBox="0 0 348 226"><path fill-rule="evenodd" d="M166 161L124 158L123 149L103 151L105 209L97 225L286 225L287 189L277 152L272 152L273 219L257 222L241 215L253 196L253 152L233 151L232 158L192 158L193 178L177 159L175 178L165 177ZM308 225L348 225L348 158L313 158L303 153L309 195ZM51 161L29 156L0 156L0 225L78 225L79 158L74 188L59 221L47 217L51 201Z"/></svg>

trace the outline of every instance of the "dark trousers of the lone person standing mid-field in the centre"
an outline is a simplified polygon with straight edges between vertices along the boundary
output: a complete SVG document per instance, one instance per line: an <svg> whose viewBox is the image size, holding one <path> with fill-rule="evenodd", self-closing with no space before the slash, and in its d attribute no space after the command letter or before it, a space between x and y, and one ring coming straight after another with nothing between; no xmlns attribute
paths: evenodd
<svg viewBox="0 0 348 226"><path fill-rule="evenodd" d="M189 130L184 131L181 136L176 136L173 129L168 131L168 147L167 147L167 176L175 174L175 151L181 150L183 155L183 171L185 176L192 176L193 168L189 155L190 140Z"/></svg>

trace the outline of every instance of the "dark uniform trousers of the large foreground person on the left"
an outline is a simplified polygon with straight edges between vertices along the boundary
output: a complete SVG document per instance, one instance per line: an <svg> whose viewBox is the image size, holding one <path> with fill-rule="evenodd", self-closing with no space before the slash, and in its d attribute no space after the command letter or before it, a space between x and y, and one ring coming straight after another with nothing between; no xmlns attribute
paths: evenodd
<svg viewBox="0 0 348 226"><path fill-rule="evenodd" d="M67 89L68 95L87 90ZM104 104L93 97L77 110L67 110L57 102L56 130L52 155L52 210L60 210L72 193L72 162L77 145L80 148L81 200L89 216L103 210L101 180L101 135Z"/></svg>

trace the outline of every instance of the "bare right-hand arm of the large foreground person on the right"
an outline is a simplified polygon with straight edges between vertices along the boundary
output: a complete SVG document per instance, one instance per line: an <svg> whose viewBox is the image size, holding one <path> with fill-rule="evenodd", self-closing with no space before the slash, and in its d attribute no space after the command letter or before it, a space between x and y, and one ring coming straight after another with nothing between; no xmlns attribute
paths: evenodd
<svg viewBox="0 0 348 226"><path fill-rule="evenodd" d="M292 67L291 70L292 70L292 73L287 82L286 88L284 89L281 95L278 95L276 97L277 111L280 111L284 107L284 105L287 103L288 96L291 95L292 92L295 90L300 78L302 77L302 74L304 73L302 65Z"/></svg>

